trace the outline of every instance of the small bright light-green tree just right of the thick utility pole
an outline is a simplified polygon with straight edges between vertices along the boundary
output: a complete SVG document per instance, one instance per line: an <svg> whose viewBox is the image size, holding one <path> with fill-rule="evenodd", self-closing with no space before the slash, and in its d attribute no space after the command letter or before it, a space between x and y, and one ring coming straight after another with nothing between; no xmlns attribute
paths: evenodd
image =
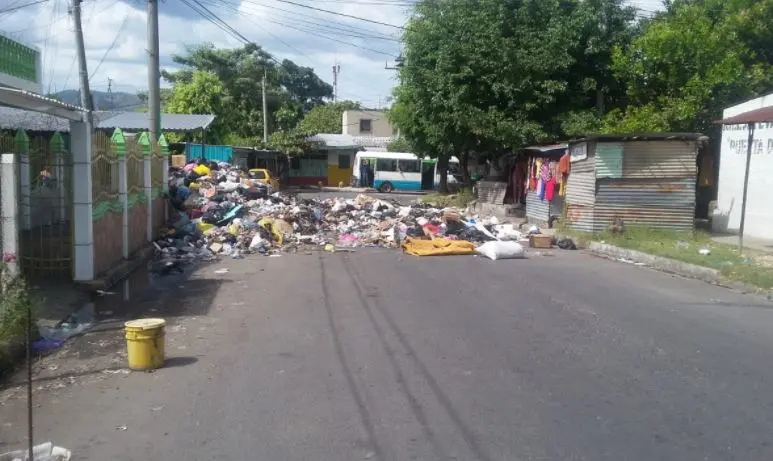
<svg viewBox="0 0 773 461"><path fill-rule="evenodd" d="M228 107L231 98L225 87L211 72L195 71L186 82L178 82L166 104L173 114L215 114L208 129L210 140L221 140L232 129L233 119Z"/></svg>

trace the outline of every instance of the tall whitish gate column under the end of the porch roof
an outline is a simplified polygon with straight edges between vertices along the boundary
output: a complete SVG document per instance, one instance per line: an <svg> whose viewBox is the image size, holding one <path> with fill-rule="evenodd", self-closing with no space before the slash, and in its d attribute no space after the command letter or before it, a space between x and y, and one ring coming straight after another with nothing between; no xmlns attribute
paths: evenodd
<svg viewBox="0 0 773 461"><path fill-rule="evenodd" d="M94 279L94 203L91 177L91 121L70 122L70 152L73 160L73 278Z"/></svg>

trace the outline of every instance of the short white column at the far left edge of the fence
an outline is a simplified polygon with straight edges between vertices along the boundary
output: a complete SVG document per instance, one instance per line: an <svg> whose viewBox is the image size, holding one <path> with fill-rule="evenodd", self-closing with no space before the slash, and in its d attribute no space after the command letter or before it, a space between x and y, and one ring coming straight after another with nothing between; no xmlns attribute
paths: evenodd
<svg viewBox="0 0 773 461"><path fill-rule="evenodd" d="M16 193L16 154L0 158L0 261L6 263L12 275L19 273L19 202Z"/></svg>

